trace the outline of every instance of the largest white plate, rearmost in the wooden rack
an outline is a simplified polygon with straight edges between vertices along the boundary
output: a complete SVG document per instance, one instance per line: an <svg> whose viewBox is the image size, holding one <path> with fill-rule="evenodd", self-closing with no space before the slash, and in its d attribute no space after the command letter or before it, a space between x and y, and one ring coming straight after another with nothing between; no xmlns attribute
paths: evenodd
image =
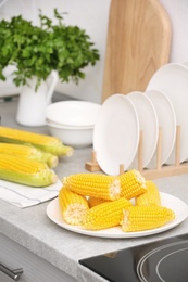
<svg viewBox="0 0 188 282"><path fill-rule="evenodd" d="M150 79L147 90L164 92L171 100L180 133L180 162L188 157L188 68L181 64L170 63L162 66ZM175 146L166 161L175 163Z"/></svg>

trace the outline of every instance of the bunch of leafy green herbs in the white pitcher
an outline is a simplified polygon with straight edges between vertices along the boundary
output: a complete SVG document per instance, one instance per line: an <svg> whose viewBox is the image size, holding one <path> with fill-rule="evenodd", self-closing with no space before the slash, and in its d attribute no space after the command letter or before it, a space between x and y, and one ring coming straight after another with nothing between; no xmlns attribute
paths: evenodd
<svg viewBox="0 0 188 282"><path fill-rule="evenodd" d="M35 26L21 15L0 21L0 79L5 80L4 67L15 65L13 82L18 87L37 77L36 89L52 70L62 82L78 84L85 78L84 68L100 60L90 37L77 26L66 26L54 9L55 23L39 10L40 25Z"/></svg>

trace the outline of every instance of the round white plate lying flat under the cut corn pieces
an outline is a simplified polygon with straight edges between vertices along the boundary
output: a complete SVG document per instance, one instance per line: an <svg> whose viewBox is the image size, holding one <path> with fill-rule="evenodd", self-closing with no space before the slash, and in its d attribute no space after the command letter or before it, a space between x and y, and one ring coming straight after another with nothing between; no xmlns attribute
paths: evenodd
<svg viewBox="0 0 188 282"><path fill-rule="evenodd" d="M161 201L162 205L166 206L168 208L172 208L175 211L176 218L164 225L163 227L155 228L155 229L150 229L146 231L139 231L139 232L124 232L122 231L121 227L114 227L114 228L109 228L104 230L99 230L99 231L90 231L86 230L79 226L71 226L64 222L60 207L59 207L59 202L58 198L54 198L53 201L50 202L50 204L47 206L47 216L58 226L67 229L70 231L73 231L75 233L80 233L85 235L90 235L90 236L100 236L100 238L139 238L139 236L147 236L147 235L152 235L156 233L164 232L166 230L170 230L180 222L183 222L187 216L188 216L188 206L179 198L172 196L166 193L160 193L161 194Z"/></svg>

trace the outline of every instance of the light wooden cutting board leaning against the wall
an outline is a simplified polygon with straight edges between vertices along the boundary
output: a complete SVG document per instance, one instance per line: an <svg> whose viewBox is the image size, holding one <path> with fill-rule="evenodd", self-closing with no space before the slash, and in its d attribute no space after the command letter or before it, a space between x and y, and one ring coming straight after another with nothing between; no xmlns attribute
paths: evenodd
<svg viewBox="0 0 188 282"><path fill-rule="evenodd" d="M159 0L112 0L102 102L114 93L145 91L171 51L170 17Z"/></svg>

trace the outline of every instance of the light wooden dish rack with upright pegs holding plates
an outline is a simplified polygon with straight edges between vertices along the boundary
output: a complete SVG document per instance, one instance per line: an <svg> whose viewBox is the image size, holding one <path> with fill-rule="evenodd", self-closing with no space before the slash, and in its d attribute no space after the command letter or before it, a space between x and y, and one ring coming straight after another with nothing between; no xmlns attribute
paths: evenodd
<svg viewBox="0 0 188 282"><path fill-rule="evenodd" d="M176 140L175 140L175 162L174 165L161 165L162 157L162 128L159 128L159 137L156 144L156 163L154 169L143 168L143 132L140 130L139 144L138 144L138 170L146 179L156 179L170 176L177 176L188 174L188 163L180 163L180 126L176 126ZM92 151L91 161L86 162L85 168L91 172L102 170L97 162L97 152ZM124 165L120 164L120 175L124 172Z"/></svg>

